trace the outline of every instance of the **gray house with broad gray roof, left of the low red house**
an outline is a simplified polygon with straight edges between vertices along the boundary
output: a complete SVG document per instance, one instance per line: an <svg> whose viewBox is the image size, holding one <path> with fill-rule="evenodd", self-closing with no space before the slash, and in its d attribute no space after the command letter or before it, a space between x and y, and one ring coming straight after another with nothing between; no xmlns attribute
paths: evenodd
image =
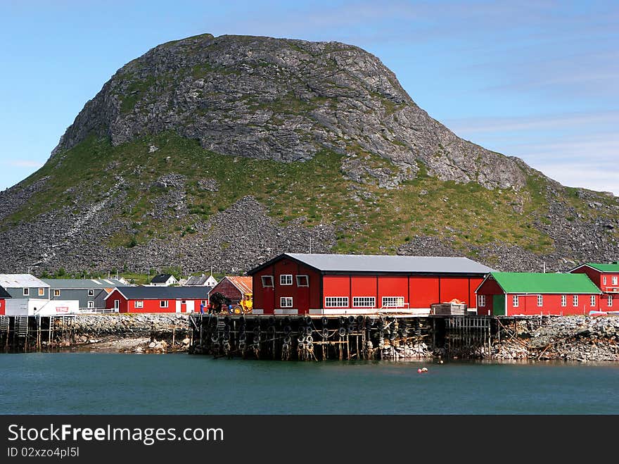
<svg viewBox="0 0 619 464"><path fill-rule="evenodd" d="M126 285L117 279L44 279L51 300L77 300L79 309L105 309L106 296Z"/></svg>

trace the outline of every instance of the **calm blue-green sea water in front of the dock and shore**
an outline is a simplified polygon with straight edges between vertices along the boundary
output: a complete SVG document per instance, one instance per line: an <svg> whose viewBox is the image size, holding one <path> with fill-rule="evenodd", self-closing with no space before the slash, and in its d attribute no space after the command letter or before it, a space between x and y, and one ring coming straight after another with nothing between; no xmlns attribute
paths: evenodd
<svg viewBox="0 0 619 464"><path fill-rule="evenodd" d="M618 388L619 363L0 355L2 414L617 414Z"/></svg>

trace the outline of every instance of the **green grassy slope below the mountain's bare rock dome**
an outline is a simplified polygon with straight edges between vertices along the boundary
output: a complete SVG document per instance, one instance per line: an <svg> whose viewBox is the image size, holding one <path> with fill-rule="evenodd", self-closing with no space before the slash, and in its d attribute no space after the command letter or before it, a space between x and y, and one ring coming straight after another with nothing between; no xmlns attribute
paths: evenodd
<svg viewBox="0 0 619 464"><path fill-rule="evenodd" d="M151 152L151 146L156 151ZM357 154L374 168L394 168L383 158ZM122 192L124 207L115 218L130 223L135 234L116 234L108 245L134 246L154 237L184 239L195 232L197 221L252 195L283 223L336 224L336 252L393 253L418 234L452 242L468 254L471 246L491 242L516 244L536 253L553 250L553 241L538 227L547 220L544 177L531 176L521 192L488 190L475 183L441 182L428 177L420 165L415 180L385 189L371 181L345 179L341 161L340 155L328 151L295 163L224 156L170 132L115 147L106 139L89 137L25 180L23 185L50 176L46 189L9 216L3 228L61 206L79 214L82 206L100 201L106 192ZM147 214L155 199L173 193L156 182L167 173L186 176L188 214L178 220ZM115 189L118 176L124 183ZM200 182L207 180L215 180L217 191L200 188ZM557 200L582 215L593 214L575 189L562 188Z"/></svg>

